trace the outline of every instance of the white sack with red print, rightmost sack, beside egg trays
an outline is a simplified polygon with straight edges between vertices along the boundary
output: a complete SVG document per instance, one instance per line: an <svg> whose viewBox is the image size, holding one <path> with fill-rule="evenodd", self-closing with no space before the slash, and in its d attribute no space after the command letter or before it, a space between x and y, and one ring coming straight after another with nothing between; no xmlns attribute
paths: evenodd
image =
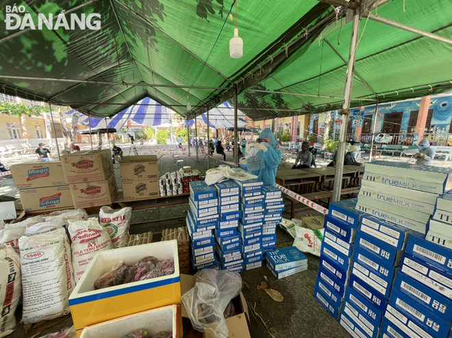
<svg viewBox="0 0 452 338"><path fill-rule="evenodd" d="M101 226L107 229L112 239L113 248L122 248L124 236L129 235L131 207L117 210L110 207L101 207L99 219Z"/></svg>

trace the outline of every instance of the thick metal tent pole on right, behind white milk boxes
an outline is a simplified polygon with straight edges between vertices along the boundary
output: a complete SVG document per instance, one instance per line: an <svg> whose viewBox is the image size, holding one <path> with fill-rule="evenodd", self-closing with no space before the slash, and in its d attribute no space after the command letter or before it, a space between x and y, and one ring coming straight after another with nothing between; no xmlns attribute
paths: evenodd
<svg viewBox="0 0 452 338"><path fill-rule="evenodd" d="M333 202L340 200L342 188L342 174L344 172L345 136L347 131L347 120L349 118L351 87L353 83L353 68L355 68L357 40L360 35L360 10L353 12L353 29L351 32L349 63L345 75L344 103L342 103L342 125L340 126L339 145L336 156L336 174L334 175Z"/></svg>

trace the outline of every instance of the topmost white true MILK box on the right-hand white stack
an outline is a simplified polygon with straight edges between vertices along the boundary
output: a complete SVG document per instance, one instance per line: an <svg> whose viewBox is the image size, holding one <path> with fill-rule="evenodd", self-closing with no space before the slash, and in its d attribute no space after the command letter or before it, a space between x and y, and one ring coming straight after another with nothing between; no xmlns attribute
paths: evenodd
<svg viewBox="0 0 452 338"><path fill-rule="evenodd" d="M405 178L416 181L417 186L412 187L407 185L405 186L407 189L433 192L436 194L443 194L452 189L452 168L418 166L416 164L393 161L372 161L364 167L364 174L368 172L379 174L381 177L388 174L391 177L397 177L402 183L405 181ZM402 184L383 183L403 187Z"/></svg>

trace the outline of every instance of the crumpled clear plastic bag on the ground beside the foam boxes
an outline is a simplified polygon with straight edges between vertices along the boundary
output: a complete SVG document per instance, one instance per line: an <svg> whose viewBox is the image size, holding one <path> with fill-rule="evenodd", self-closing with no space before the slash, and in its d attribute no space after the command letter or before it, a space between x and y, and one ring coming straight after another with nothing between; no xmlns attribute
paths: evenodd
<svg viewBox="0 0 452 338"><path fill-rule="evenodd" d="M195 330L212 337L227 338L224 312L229 302L240 294L242 278L237 272L205 269L194 275L196 283L182 296L182 302Z"/></svg>

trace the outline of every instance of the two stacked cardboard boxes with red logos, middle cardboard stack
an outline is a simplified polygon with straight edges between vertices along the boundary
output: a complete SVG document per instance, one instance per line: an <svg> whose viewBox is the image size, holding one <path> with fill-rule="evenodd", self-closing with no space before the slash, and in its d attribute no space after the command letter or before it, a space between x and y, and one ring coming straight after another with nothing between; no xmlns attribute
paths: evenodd
<svg viewBox="0 0 452 338"><path fill-rule="evenodd" d="M110 151L63 155L61 163L75 208L98 207L114 202L118 187Z"/></svg>

